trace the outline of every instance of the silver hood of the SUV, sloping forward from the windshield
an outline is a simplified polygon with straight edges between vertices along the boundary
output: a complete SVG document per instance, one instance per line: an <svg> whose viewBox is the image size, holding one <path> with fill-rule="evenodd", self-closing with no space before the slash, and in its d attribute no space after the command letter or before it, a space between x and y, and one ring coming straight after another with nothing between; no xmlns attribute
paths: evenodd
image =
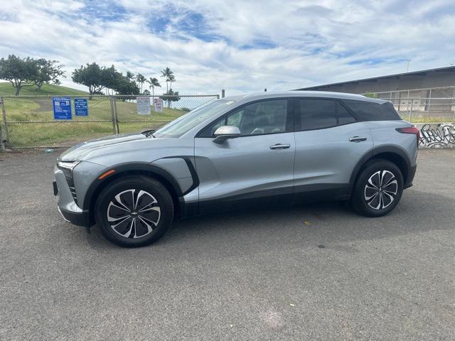
<svg viewBox="0 0 455 341"><path fill-rule="evenodd" d="M90 153L100 151L100 149L115 148L116 146L123 146L124 144L131 144L134 141L144 139L156 140L154 137L145 136L141 133L107 136L100 139L82 142L81 144L76 144L67 151L63 152L58 159L62 161L83 161L90 155Z"/></svg>

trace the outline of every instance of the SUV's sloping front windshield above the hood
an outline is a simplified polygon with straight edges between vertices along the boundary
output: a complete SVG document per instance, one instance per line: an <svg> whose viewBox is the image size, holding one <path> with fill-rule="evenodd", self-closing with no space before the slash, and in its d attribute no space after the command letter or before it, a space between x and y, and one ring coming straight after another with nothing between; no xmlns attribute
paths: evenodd
<svg viewBox="0 0 455 341"><path fill-rule="evenodd" d="M225 101L220 99L215 102L208 102L206 104L191 110L188 114L184 114L178 119L174 119L165 126L161 127L154 132L156 137L180 137L187 131L190 131L195 126L205 121L209 117L218 114L234 101Z"/></svg>

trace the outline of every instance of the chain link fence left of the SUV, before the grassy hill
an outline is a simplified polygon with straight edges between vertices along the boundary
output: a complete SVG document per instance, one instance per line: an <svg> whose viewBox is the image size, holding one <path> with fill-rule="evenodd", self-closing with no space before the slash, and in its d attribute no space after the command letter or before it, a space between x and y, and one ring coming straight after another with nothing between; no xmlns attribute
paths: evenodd
<svg viewBox="0 0 455 341"><path fill-rule="evenodd" d="M11 148L67 147L101 136L157 129L219 95L150 96L149 114L138 114L136 96L58 97L70 97L71 119L54 119L53 97L0 97L0 140ZM161 112L155 111L156 98L163 100ZM87 116L75 115L75 99L87 99Z"/></svg>

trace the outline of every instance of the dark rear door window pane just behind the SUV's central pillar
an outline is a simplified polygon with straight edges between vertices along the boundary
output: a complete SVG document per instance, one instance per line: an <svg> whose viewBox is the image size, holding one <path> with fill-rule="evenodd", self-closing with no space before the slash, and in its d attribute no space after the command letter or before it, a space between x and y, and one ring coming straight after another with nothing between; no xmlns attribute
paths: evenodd
<svg viewBox="0 0 455 341"><path fill-rule="evenodd" d="M299 99L301 130L336 126L336 104L331 99Z"/></svg>

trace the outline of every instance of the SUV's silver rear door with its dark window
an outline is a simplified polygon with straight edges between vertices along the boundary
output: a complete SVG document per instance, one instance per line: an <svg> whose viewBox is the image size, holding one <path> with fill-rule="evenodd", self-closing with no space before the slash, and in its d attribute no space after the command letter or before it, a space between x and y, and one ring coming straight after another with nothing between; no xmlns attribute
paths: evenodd
<svg viewBox="0 0 455 341"><path fill-rule="evenodd" d="M337 99L295 101L294 193L297 198L314 195L311 192L330 197L348 194L356 163L373 148L368 125L357 121Z"/></svg>

